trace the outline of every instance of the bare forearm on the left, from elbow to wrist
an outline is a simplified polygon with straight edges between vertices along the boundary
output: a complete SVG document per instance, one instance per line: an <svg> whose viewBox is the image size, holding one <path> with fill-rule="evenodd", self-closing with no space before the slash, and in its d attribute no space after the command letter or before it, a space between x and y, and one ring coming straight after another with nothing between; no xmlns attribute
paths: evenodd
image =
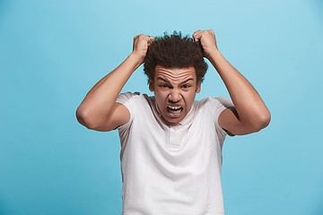
<svg viewBox="0 0 323 215"><path fill-rule="evenodd" d="M122 64L92 87L77 108L76 115L92 122L100 122L108 117L118 94L141 63L134 54L127 56Z"/></svg>

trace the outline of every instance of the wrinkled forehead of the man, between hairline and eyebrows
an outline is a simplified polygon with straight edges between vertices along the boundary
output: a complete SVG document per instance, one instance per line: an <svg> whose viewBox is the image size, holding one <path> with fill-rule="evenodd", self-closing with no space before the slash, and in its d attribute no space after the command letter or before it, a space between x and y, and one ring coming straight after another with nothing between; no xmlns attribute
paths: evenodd
<svg viewBox="0 0 323 215"><path fill-rule="evenodd" d="M159 77L166 78L167 80L177 81L187 78L196 80L196 71L193 66L187 68L164 68L162 65L156 65L155 79Z"/></svg>

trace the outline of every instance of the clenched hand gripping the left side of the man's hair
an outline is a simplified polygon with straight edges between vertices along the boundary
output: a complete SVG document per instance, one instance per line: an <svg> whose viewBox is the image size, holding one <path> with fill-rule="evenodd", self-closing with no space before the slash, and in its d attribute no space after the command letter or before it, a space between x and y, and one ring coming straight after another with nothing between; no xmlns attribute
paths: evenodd
<svg viewBox="0 0 323 215"><path fill-rule="evenodd" d="M148 47L152 44L154 39L154 37L146 36L144 34L139 34L135 36L132 54L140 59L141 64L144 63L144 57L146 56Z"/></svg>

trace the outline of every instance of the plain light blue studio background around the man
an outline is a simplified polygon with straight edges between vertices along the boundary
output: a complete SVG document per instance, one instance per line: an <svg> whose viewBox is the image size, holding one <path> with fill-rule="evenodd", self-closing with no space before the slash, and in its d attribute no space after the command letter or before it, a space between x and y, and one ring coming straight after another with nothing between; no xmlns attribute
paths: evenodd
<svg viewBox="0 0 323 215"><path fill-rule="evenodd" d="M118 132L86 129L75 110L135 35L209 29L272 113L224 142L226 215L323 214L319 0L1 0L0 214L121 214ZM209 65L197 99L229 98ZM128 90L150 93L143 66Z"/></svg>

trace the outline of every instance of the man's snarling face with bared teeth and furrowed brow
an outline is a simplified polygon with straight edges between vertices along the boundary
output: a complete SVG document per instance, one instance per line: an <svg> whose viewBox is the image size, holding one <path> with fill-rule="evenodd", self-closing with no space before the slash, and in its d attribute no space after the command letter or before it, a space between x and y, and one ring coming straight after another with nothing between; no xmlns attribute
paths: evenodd
<svg viewBox="0 0 323 215"><path fill-rule="evenodd" d="M149 81L165 123L179 123L187 116L200 89L194 67L166 69L157 65L154 80Z"/></svg>

